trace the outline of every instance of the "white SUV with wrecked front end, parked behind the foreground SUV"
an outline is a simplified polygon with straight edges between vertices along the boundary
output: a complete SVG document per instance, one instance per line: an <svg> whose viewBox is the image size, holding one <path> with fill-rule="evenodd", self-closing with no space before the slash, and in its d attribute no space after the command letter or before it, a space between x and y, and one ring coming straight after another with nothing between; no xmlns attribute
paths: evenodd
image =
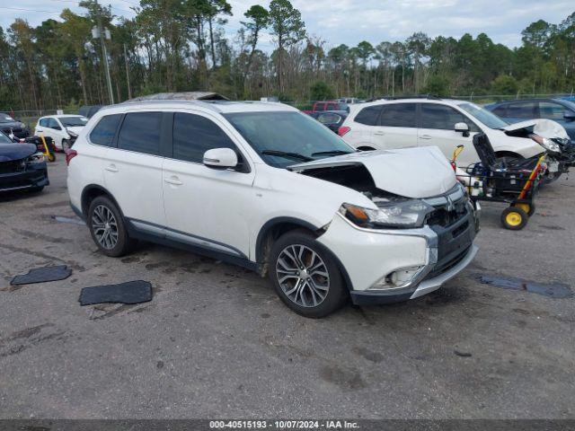
<svg viewBox="0 0 575 431"><path fill-rule="evenodd" d="M438 146L448 159L457 145L457 165L480 162L473 135L485 133L500 158L529 158L544 149L528 136L511 136L509 124L470 101L396 99L353 105L340 136L360 150ZM509 128L511 129L511 128Z"/></svg>

